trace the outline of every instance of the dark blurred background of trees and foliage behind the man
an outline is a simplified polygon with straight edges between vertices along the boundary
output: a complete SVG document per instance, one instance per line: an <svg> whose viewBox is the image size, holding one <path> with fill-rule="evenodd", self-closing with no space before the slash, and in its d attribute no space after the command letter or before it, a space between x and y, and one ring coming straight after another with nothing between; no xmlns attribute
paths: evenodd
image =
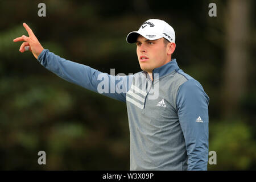
<svg viewBox="0 0 256 182"><path fill-rule="evenodd" d="M38 4L46 4L46 17ZM210 17L209 3L217 5ZM141 71L130 31L150 18L176 32L179 67L210 97L209 170L256 169L255 5L230 1L0 1L0 169L128 170L126 105L47 71L13 39L34 31L44 48L115 74ZM46 165L38 152L46 151ZM210 156L209 156L210 157Z"/></svg>

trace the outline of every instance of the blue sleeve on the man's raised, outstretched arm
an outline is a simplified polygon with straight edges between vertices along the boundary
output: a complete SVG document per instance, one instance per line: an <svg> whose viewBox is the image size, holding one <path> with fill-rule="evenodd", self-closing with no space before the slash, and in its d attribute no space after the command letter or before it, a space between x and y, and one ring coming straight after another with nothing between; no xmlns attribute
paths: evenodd
<svg viewBox="0 0 256 182"><path fill-rule="evenodd" d="M133 75L114 76L102 73L86 65L65 60L60 56L44 49L38 56L38 61L49 71L73 84L80 85L88 90L126 102Z"/></svg>

